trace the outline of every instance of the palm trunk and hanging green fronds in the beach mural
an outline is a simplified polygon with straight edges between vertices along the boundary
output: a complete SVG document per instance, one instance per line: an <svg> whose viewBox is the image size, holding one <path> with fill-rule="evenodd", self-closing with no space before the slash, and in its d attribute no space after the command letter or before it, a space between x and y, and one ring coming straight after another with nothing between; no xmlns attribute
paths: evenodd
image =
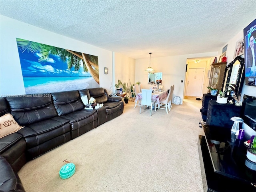
<svg viewBox="0 0 256 192"><path fill-rule="evenodd" d="M70 70L72 66L78 71L80 67L83 67L84 72L89 72L94 80L100 84L99 80L99 66L98 66L98 57L75 52L68 49L58 48L46 44L41 44L33 41L28 41L20 38L16 38L17 46L22 52L27 50L28 52L39 52L40 57L38 62L46 62L50 59L50 54L59 56L63 62L66 62L68 69Z"/></svg>

